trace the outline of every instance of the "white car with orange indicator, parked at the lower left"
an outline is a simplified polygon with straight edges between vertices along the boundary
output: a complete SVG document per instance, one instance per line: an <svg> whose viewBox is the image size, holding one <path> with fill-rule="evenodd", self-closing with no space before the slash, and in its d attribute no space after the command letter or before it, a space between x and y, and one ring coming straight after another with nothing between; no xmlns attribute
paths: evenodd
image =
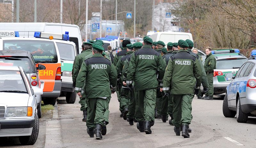
<svg viewBox="0 0 256 148"><path fill-rule="evenodd" d="M21 144L33 145L39 132L36 95L41 88L31 88L25 71L17 66L0 66L0 137L18 136Z"/></svg>

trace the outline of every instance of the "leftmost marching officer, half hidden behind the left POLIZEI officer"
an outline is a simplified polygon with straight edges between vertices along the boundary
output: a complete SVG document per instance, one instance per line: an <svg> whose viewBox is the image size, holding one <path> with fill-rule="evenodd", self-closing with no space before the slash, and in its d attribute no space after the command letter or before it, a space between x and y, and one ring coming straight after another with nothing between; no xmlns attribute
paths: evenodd
<svg viewBox="0 0 256 148"><path fill-rule="evenodd" d="M72 69L72 76L73 76L73 87L76 85L76 77L79 73L79 70L82 66L83 61L85 60L85 56L92 53L92 43L84 42L82 52L78 54L74 60L73 69ZM75 90L79 90L79 88L75 87ZM86 122L87 117L87 105L85 102L85 95L80 97L79 103L81 104L80 110L83 111L84 118L82 119L83 122Z"/></svg>

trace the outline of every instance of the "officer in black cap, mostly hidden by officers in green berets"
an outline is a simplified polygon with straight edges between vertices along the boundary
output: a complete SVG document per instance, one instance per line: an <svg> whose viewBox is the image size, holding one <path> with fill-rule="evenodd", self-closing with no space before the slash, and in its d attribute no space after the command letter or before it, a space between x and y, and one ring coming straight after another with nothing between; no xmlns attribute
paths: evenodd
<svg viewBox="0 0 256 148"><path fill-rule="evenodd" d="M121 59L125 53L127 52L127 44L131 44L131 42L129 40L123 40L122 42L122 50L118 53L116 53L115 57L114 57L114 61L113 61L113 64L114 66L116 66L117 62L119 59ZM120 117L123 117L124 116L124 109L122 108L122 104L121 104L121 97L120 97L120 93L121 93L121 88L122 88L122 82L121 81L118 81L117 82L117 88L116 88L116 95L117 95L117 99L119 101L119 110L121 112L120 114Z"/></svg>

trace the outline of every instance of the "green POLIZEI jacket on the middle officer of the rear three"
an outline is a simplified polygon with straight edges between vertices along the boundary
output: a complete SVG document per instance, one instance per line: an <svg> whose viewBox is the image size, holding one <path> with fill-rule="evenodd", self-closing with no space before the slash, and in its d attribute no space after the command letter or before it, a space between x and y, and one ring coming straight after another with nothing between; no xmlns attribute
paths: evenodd
<svg viewBox="0 0 256 148"><path fill-rule="evenodd" d="M158 87L157 75L159 80L163 79L164 60L161 54L151 47L144 45L135 51L129 62L126 84L132 84L134 81L135 91Z"/></svg>

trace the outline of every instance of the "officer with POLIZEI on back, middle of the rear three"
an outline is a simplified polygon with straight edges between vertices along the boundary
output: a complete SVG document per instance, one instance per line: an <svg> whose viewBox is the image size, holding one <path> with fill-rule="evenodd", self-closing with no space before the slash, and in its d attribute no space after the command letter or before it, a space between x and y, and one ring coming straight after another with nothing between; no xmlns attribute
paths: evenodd
<svg viewBox="0 0 256 148"><path fill-rule="evenodd" d="M152 43L151 38L147 36L143 38L143 47L132 54L126 80L126 85L131 90L132 82L134 81L136 98L135 119L138 121L140 132L145 131L146 134L151 134L151 123L155 122L154 109L156 104L156 88L158 87L157 79L163 79L165 68L161 54L152 49ZM159 71L158 78L157 70Z"/></svg>

